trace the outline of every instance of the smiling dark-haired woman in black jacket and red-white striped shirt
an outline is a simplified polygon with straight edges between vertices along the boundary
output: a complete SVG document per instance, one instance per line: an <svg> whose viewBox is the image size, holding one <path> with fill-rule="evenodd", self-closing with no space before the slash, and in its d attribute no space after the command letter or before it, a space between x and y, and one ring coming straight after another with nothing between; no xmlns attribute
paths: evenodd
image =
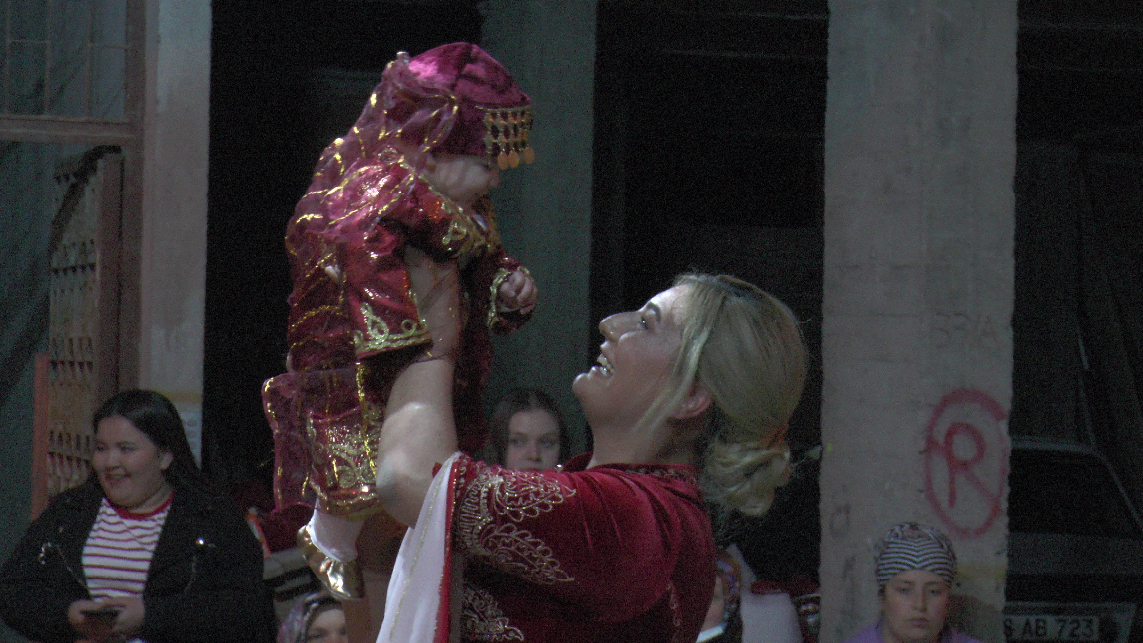
<svg viewBox="0 0 1143 643"><path fill-rule="evenodd" d="M41 643L273 640L262 550L216 497L166 397L93 419L91 476L55 497L0 572L0 616Z"/></svg>

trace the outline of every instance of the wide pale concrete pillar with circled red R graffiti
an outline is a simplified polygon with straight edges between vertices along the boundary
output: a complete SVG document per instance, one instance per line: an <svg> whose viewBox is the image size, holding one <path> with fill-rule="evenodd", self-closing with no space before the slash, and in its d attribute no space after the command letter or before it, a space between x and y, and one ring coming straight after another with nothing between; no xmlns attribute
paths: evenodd
<svg viewBox="0 0 1143 643"><path fill-rule="evenodd" d="M878 618L900 521L960 557L960 629L1004 641L1016 0L831 0L822 633Z"/></svg>

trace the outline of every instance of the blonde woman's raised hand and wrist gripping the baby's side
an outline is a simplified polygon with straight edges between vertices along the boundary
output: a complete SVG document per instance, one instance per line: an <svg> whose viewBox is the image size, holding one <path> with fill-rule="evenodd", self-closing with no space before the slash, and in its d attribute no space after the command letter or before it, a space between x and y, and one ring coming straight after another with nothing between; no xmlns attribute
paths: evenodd
<svg viewBox="0 0 1143 643"><path fill-rule="evenodd" d="M461 279L456 263L435 263L417 248L407 248L405 263L417 311L429 326L431 357L454 356L461 346Z"/></svg>

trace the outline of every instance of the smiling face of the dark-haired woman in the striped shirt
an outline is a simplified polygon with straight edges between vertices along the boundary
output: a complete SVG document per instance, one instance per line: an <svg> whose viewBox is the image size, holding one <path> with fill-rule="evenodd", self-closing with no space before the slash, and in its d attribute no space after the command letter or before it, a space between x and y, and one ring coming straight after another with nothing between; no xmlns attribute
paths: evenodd
<svg viewBox="0 0 1143 643"><path fill-rule="evenodd" d="M159 448L127 418L110 415L95 429L91 466L113 505L125 509L147 505L165 489L163 471L171 460L169 451Z"/></svg>

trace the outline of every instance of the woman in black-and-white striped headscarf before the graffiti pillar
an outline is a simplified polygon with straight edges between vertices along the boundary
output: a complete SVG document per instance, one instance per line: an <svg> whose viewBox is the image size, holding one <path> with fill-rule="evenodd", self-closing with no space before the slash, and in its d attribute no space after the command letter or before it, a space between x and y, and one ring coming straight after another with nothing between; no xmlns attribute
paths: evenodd
<svg viewBox="0 0 1143 643"><path fill-rule="evenodd" d="M957 553L938 530L893 525L877 545L881 618L845 643L980 643L948 625Z"/></svg>

